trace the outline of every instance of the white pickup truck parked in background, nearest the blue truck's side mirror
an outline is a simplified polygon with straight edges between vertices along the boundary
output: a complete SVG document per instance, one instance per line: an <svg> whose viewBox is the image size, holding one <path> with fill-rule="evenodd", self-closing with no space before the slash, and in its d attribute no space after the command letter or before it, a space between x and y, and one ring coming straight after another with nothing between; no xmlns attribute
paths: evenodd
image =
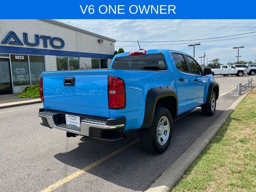
<svg viewBox="0 0 256 192"><path fill-rule="evenodd" d="M212 69L212 75L236 75L236 76L243 76L247 73L246 68L235 67L233 65L221 65L220 69Z"/></svg>

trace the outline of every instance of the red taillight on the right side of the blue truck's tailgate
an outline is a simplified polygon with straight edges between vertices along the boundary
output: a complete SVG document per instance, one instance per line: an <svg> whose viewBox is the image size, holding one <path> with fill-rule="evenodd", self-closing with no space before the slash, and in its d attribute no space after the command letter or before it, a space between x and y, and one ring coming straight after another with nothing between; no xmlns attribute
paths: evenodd
<svg viewBox="0 0 256 192"><path fill-rule="evenodd" d="M126 106L124 80L118 77L108 77L108 107L123 109Z"/></svg>

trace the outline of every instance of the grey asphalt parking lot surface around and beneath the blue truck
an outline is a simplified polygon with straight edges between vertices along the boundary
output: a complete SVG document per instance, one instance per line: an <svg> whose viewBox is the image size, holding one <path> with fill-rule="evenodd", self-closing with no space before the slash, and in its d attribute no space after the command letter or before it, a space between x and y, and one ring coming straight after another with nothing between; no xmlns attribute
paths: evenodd
<svg viewBox="0 0 256 192"><path fill-rule="evenodd" d="M214 76L220 84L216 114L203 116L198 108L175 118L161 155L144 152L136 131L115 143L66 138L39 125L42 104L1 109L0 191L146 190L238 98L236 84L254 77Z"/></svg>

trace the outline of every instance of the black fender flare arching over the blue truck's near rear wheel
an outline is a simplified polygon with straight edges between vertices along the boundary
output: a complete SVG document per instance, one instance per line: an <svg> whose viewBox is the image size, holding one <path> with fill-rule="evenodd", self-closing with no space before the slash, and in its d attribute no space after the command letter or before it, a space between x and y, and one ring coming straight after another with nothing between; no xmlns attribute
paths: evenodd
<svg viewBox="0 0 256 192"><path fill-rule="evenodd" d="M175 90L169 86L154 87L148 90L145 102L144 120L141 129L147 129L152 126L156 103L160 98L173 96L176 99L176 115L178 114L178 97Z"/></svg>

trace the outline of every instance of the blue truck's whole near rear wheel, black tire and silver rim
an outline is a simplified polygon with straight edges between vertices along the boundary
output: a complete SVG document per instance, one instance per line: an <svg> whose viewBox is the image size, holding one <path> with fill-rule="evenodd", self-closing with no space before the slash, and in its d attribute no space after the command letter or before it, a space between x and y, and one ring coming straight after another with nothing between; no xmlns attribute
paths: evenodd
<svg viewBox="0 0 256 192"><path fill-rule="evenodd" d="M140 131L142 147L150 153L161 154L172 137L172 116L167 108L157 106L151 128Z"/></svg>

